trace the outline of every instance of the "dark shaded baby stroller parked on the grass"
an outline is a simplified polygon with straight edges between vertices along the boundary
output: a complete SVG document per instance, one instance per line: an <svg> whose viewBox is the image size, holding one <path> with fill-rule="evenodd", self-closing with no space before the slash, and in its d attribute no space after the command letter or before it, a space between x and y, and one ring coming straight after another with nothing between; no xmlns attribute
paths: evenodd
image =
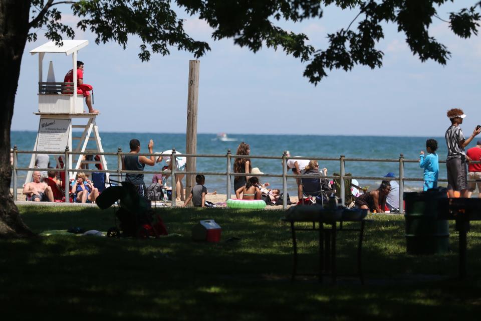
<svg viewBox="0 0 481 321"><path fill-rule="evenodd" d="M134 185L122 182L122 186L105 189L96 200L102 210L111 207L115 202L119 207L115 211L115 227L108 230L109 237L148 238L167 235L167 229L157 214L150 207L150 202L137 194ZM118 220L118 222L117 222Z"/></svg>

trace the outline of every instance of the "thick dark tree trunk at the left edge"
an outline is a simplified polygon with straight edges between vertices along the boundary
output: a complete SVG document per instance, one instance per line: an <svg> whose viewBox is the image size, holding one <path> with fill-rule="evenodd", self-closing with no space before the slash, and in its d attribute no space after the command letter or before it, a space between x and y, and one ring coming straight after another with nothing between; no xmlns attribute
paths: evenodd
<svg viewBox="0 0 481 321"><path fill-rule="evenodd" d="M22 221L10 193L10 126L29 32L29 11L29 0L0 0L0 238L35 235Z"/></svg>

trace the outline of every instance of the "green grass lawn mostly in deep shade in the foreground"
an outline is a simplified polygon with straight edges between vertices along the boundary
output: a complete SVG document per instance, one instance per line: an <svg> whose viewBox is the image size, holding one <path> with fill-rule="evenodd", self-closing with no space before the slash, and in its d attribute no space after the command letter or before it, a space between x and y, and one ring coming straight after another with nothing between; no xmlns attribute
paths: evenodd
<svg viewBox="0 0 481 321"><path fill-rule="evenodd" d="M113 210L21 207L35 232L83 227L106 231ZM457 280L452 252L405 253L404 217L374 215L363 247L366 284L340 278L290 282L292 242L281 211L164 209L173 235L112 239L55 235L1 240L0 307L5 319L479 319L481 225L468 234L468 278ZM191 241L192 226L214 219L219 243ZM300 272L317 268L315 232L299 233ZM239 241L227 242L237 237ZM354 234L338 235L339 272L356 270ZM326 279L325 283L329 280Z"/></svg>

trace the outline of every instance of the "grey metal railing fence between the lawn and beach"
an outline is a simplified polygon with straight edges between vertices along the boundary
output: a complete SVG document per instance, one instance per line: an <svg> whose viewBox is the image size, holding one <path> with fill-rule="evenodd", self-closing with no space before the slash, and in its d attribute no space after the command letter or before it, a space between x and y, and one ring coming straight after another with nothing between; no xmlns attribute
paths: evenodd
<svg viewBox="0 0 481 321"><path fill-rule="evenodd" d="M252 174L246 173L233 173L231 171L231 159L233 158L254 158L254 159L279 159L282 161L282 174L256 174L257 177L273 177L273 178L282 178L282 193L283 195L287 195L287 179L288 178L325 178L325 179L335 179L340 180L340 197L341 197L341 204L344 204L345 200L345 186L344 180L345 179L355 179L355 180L376 180L376 181L398 181L399 182L399 212L404 213L404 206L403 206L403 193L404 193L404 182L423 182L422 178L407 178L404 177L404 163L418 163L417 159L404 159L403 154L399 155L398 159L389 159L389 158L348 158L345 155L340 155L339 158L335 157L322 157L322 156L303 156L301 157L293 157L288 156L287 151L284 151L282 156L265 156L265 155L232 155L230 149L227 149L225 154L181 154L182 157L208 157L208 158L225 158L226 159L226 171L225 172L186 172L186 171L178 171L177 170L177 163L176 163L176 151L175 148L172 148L172 153L170 154L162 154L162 153L138 153L139 156L168 156L171 159L171 170L165 171L127 171L122 170L122 156L129 155L129 152L123 152L122 148L118 148L117 152L97 152L99 155L110 155L110 156L117 156L117 169L115 170L88 170L88 169L72 169L70 168L70 157L72 155L80 155L85 154L85 152L81 151L71 151L69 146L65 147L64 152L59 151L33 151L33 150L18 150L17 145L11 149L13 153L13 189L14 189L14 198L18 200L17 195L17 172L18 171L55 171L55 172L64 172L65 173L65 182L70 182L70 175L71 173L75 172L86 172L86 173L110 173L115 174L119 180L121 180L123 174L163 174L163 175L170 175L171 179L171 188L172 188L172 202L171 206L176 206L176 181L175 175L208 175L208 176L225 176L226 177L226 195L227 199L230 198L231 195L231 177L235 176L253 176ZM18 167L18 154L54 154L54 155L62 155L64 157L64 164L65 167L62 169L40 169L40 168L22 168ZM180 154L179 154L180 155ZM338 161L339 162L339 169L340 169L340 176L324 176L322 174L319 175L296 175L296 174L287 174L287 161L289 159L316 159L318 161ZM345 174L345 163L346 162L380 162L380 163L399 163L399 177L395 178L386 178L386 177L377 177L377 176L346 176ZM446 163L445 161L439 161L439 163ZM480 163L480 162L473 162L473 163ZM438 182L447 182L445 179L439 179ZM468 181L473 182L473 181ZM69 195L69 185L64 184L65 186L65 195ZM235 191L234 191L235 192ZM69 202L69 198L66 197L66 202ZM283 198L283 209L287 209L287 198Z"/></svg>

